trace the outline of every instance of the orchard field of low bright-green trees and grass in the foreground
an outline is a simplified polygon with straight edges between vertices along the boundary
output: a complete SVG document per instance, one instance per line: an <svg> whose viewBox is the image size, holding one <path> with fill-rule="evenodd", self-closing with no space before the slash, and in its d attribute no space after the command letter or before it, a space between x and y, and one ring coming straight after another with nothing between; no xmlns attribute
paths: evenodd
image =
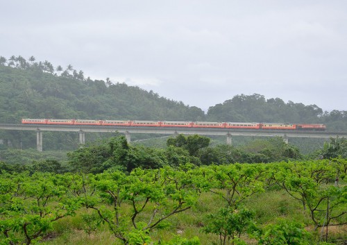
<svg viewBox="0 0 347 245"><path fill-rule="evenodd" d="M3 171L0 244L345 244L346 169L335 159Z"/></svg>

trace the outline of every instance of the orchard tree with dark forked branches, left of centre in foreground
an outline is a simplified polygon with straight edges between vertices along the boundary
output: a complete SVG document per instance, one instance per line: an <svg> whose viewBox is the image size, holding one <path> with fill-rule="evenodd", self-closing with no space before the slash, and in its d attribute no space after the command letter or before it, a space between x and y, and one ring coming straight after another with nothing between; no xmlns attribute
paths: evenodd
<svg viewBox="0 0 347 245"><path fill-rule="evenodd" d="M104 172L90 176L85 184L86 208L95 210L110 232L129 245L149 242L152 230L192 208L197 198L191 173L169 168L134 169L128 176L120 171ZM124 205L130 214L122 212Z"/></svg>

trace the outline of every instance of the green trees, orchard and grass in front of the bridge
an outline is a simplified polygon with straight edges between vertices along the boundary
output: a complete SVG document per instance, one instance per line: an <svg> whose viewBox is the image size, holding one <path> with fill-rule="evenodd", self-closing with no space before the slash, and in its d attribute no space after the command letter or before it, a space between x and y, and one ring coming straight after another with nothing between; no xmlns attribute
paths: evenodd
<svg viewBox="0 0 347 245"><path fill-rule="evenodd" d="M243 149L209 142L178 135L167 149L155 149L120 136L69 153L67 164L1 162L0 238L3 244L69 244L83 230L85 242L108 233L114 244L342 244L344 139L319 151L323 160L301 160L280 139ZM232 162L259 152L286 161ZM50 235L56 239L46 240Z"/></svg>

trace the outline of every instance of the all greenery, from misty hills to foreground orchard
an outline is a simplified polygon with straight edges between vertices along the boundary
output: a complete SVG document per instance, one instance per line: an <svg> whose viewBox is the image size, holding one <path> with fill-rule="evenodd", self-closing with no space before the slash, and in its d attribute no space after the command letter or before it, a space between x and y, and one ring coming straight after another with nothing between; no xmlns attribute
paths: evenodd
<svg viewBox="0 0 347 245"><path fill-rule="evenodd" d="M278 121L347 129L346 111L323 112L259 94L235 96L205 115L152 91L109 78L92 81L71 65L55 69L33 56L0 56L0 88L0 123L23 117ZM299 148L280 137L236 137L228 146L201 135L175 135L144 145L129 144L118 133L90 133L90 143L78 148L77 135L47 132L44 145L55 151L42 153L31 149L35 133L2 131L0 139L0 244L347 240L344 138L297 142Z"/></svg>

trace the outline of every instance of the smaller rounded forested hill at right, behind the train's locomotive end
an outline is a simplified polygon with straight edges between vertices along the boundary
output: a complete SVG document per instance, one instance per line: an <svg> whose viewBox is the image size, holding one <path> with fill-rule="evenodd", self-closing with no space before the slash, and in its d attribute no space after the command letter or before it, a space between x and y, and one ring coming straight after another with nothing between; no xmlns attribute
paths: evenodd
<svg viewBox="0 0 347 245"><path fill-rule="evenodd" d="M282 99L265 99L260 94L237 95L223 104L211 106L209 121L257 121L327 124L328 130L347 130L347 111L323 112L317 105Z"/></svg>

